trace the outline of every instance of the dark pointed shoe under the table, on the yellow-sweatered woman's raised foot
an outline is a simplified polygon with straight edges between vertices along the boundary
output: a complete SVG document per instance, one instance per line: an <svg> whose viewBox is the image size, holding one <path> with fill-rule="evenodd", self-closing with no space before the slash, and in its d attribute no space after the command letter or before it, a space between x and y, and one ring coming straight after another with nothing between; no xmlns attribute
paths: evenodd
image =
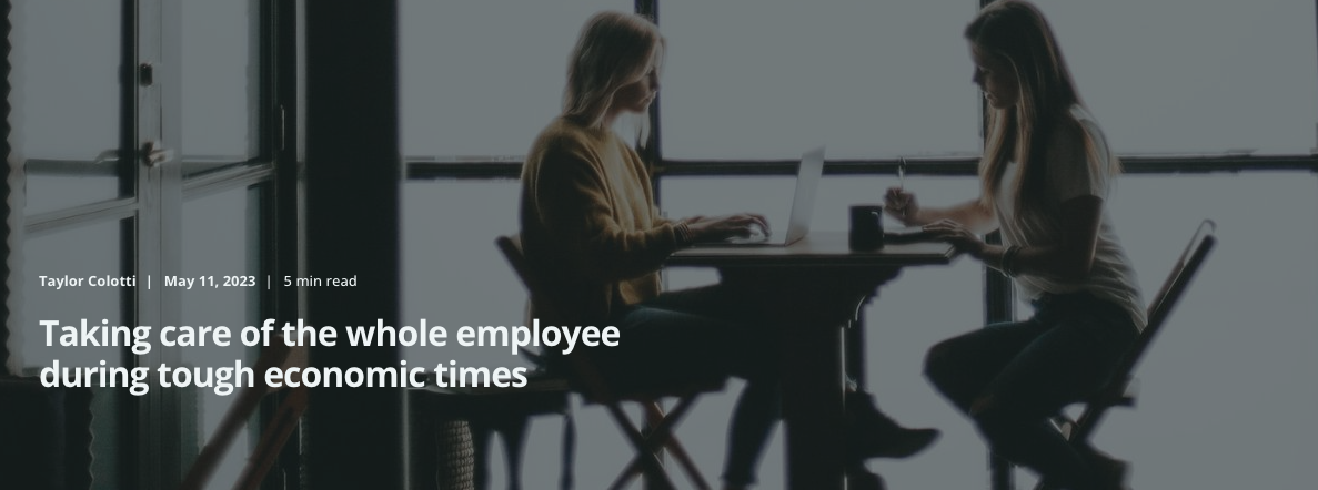
<svg viewBox="0 0 1318 490"><path fill-rule="evenodd" d="M846 394L846 445L853 460L903 458L924 450L938 439L934 428L904 428L874 406L869 394Z"/></svg>

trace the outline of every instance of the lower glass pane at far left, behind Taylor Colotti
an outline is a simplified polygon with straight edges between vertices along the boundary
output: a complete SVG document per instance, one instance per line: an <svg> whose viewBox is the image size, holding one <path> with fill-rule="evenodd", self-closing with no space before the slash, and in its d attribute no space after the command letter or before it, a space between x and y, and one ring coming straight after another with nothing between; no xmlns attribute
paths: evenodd
<svg viewBox="0 0 1318 490"><path fill-rule="evenodd" d="M55 362L61 370L71 368L129 368L132 362L123 346L62 346L62 328L51 329L51 342L46 342L46 328L41 320L58 320L61 327L82 329L82 320L88 327L130 325L132 319L124 312L124 299L132 290L115 286L94 286L107 277L132 277L123 269L120 221L109 221L28 238L22 244L21 269L14 270L21 277L18 288L21 308L13 317L17 325L11 333L11 348L18 357L18 366L25 375L41 375L43 369L53 369ZM45 277L45 279L42 278ZM76 283L76 286L74 286ZM70 339L72 340L72 339ZM76 341L80 341L76 340ZM100 340L98 340L100 342ZM101 342L105 345L107 342ZM120 339L119 345L124 345ZM120 406L130 398L129 389L134 383L149 383L153 379L133 381L130 371L123 375L109 375L115 387L92 385L92 477L95 489L117 489L120 476L120 452L124 436L119 432ZM149 373L144 373L149 374ZM70 373L70 375L74 375ZM74 375L75 377L75 375ZM61 378L61 386L67 382ZM82 383L86 386L86 382Z"/></svg>

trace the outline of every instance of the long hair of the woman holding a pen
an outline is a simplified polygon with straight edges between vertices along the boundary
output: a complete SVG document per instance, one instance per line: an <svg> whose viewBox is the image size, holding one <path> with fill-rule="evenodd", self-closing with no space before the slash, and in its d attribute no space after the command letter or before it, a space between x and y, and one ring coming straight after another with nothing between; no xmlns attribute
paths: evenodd
<svg viewBox="0 0 1318 490"><path fill-rule="evenodd" d="M1101 154L1097 142L1070 115L1073 105L1082 105L1079 94L1053 30L1039 8L1023 0L994 1L966 26L965 37L975 47L1011 65L1020 94L1014 107L990 108L988 136L979 161L981 204L992 207L1007 163L1017 158L1021 177L1015 188L1016 215L1043 209L1046 186L1043 161L1058 128L1074 129L1083 136L1090 165L1107 166L1094 170L1120 171L1115 158L1107 162L1094 158Z"/></svg>

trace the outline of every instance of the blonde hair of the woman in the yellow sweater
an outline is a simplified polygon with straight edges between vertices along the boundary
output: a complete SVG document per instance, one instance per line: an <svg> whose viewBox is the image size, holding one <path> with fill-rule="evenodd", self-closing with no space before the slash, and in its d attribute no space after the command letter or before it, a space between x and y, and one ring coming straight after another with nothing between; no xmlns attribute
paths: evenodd
<svg viewBox="0 0 1318 490"><path fill-rule="evenodd" d="M645 76L650 62L663 55L663 47L659 28L645 17L613 11L592 16L568 58L563 116L600 126L618 88ZM639 122L642 133L648 130L645 116Z"/></svg>

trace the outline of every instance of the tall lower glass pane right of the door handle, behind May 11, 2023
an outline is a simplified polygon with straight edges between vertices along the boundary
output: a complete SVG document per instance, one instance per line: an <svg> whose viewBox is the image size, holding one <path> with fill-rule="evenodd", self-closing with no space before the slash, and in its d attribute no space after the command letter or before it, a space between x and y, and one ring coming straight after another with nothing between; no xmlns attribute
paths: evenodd
<svg viewBox="0 0 1318 490"><path fill-rule="evenodd" d="M260 294L265 277L260 277L256 248L260 242L249 217L260 209L257 192L233 188L221 194L188 200L183 204L183 277L211 278L210 285L183 291L183 324L192 327L227 327L229 345L182 348L183 365L199 368L233 368L236 361L250 368L256 362L254 349L240 341L245 325L260 325ZM225 278L252 278L254 286L227 286ZM260 281L256 281L258 279ZM235 285L235 283L229 283ZM243 285L239 282L237 285ZM249 356L250 354L250 356ZM260 374L258 374L260 375ZM219 378L216 378L219 379ZM229 381L232 382L232 381ZM237 399L237 390L219 383L214 387L191 387L185 400L195 403L196 414L182 414L199 432L185 443L204 444L215 435L229 406ZM185 425L187 427L187 425ZM183 457L196 454L199 447L185 447ZM211 477L208 489L229 489L243 470L250 447L239 435Z"/></svg>

